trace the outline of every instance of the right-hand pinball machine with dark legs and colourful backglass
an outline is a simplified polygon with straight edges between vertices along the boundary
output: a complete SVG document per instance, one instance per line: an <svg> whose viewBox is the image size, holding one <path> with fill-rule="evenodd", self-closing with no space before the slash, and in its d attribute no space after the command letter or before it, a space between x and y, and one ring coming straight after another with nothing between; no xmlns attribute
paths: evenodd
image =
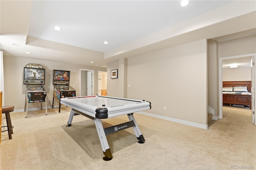
<svg viewBox="0 0 256 170"><path fill-rule="evenodd" d="M52 107L54 106L54 98L59 101L65 97L76 97L76 90L69 85L70 71L52 70L52 83L54 85Z"/></svg>

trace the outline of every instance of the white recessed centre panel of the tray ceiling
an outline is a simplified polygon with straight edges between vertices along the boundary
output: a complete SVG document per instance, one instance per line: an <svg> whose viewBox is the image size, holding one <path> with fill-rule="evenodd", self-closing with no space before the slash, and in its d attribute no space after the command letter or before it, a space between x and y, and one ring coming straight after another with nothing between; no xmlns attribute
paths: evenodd
<svg viewBox="0 0 256 170"><path fill-rule="evenodd" d="M28 36L106 52L229 2L34 1Z"/></svg>

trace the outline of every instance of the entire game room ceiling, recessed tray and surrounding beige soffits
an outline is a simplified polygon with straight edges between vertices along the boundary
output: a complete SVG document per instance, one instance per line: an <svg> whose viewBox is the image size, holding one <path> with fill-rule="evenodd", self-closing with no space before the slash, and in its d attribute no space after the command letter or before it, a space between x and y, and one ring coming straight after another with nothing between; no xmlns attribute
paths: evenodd
<svg viewBox="0 0 256 170"><path fill-rule="evenodd" d="M255 35L253 1L191 0L186 7L180 2L1 0L0 49L7 56L106 67L122 57L204 38L223 42L252 28Z"/></svg>

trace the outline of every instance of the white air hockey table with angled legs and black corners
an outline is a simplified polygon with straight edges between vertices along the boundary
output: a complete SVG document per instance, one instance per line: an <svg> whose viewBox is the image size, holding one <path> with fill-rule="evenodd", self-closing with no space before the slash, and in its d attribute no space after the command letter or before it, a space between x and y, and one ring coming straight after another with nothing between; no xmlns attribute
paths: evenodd
<svg viewBox="0 0 256 170"><path fill-rule="evenodd" d="M106 138L108 134L132 127L138 139L138 143L145 142L133 113L151 109L151 103L149 101L96 95L62 98L60 99L60 103L71 108L67 127L71 126L74 113L79 113L94 121L100 138L104 160L111 160L113 158ZM127 115L129 121L103 128L101 119L108 119L120 115Z"/></svg>

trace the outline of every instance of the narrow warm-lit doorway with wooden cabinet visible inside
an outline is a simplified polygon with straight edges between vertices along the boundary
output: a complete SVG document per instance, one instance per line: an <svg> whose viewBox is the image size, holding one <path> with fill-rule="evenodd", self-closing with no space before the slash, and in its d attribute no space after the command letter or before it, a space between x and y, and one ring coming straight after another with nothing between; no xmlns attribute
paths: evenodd
<svg viewBox="0 0 256 170"><path fill-rule="evenodd" d="M98 71L98 95L107 96L107 72Z"/></svg>

